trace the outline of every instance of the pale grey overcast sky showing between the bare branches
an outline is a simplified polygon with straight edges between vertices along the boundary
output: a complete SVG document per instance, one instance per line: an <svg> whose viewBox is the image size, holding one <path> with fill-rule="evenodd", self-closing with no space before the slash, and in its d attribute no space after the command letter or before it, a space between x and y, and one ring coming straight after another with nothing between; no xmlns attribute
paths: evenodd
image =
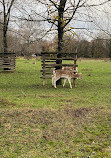
<svg viewBox="0 0 111 158"><path fill-rule="evenodd" d="M0 0L2 1L2 0ZM87 4L99 4L104 2L105 0L88 0ZM29 14L34 14L34 12L44 12L45 7L43 5L38 5L36 0L24 0L18 1L17 4L15 3L12 10L13 16L18 17L24 17L27 18ZM23 10L21 9L24 8ZM20 8L20 9L19 9ZM0 3L0 9L2 10L2 6ZM33 11L32 11L33 10ZM84 14L88 15L85 16ZM35 18L40 19L40 17L35 16ZM14 18L16 20L16 18ZM93 21L92 22L83 22L83 21ZM17 27L14 22L10 23L11 26L14 28ZM12 25L13 24L13 25ZM74 28L82 28L75 29L75 32L79 35L92 39L92 37L95 36L95 34L98 34L100 30L105 30L106 34L111 34L111 2L108 2L107 4L98 6L98 7L91 7L91 8L80 8L78 10L78 14L75 15L75 20L71 21L70 26L73 26ZM44 23L43 26L45 29L48 29L49 25L47 23ZM83 28L87 28L87 30L84 30ZM102 31L102 32L105 32ZM51 36L51 35L50 35Z"/></svg>

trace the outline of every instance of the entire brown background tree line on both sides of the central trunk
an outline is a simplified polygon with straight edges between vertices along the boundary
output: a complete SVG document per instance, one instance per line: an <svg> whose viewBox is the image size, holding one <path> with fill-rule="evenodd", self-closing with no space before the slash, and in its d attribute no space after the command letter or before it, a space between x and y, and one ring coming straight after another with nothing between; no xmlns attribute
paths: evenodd
<svg viewBox="0 0 111 158"><path fill-rule="evenodd" d="M1 25L0 28L2 28ZM41 51L56 51L56 37L52 41L41 39L29 42L28 33L30 34L30 32L24 30L22 35L25 39L22 39L14 32L8 32L8 50L15 52L18 56L26 57L30 57L32 54L40 55ZM0 29L0 52L3 51L2 38L2 29ZM78 57L83 58L111 58L111 40L95 37L95 39L88 41L64 36L63 51L65 53L78 52Z"/></svg>

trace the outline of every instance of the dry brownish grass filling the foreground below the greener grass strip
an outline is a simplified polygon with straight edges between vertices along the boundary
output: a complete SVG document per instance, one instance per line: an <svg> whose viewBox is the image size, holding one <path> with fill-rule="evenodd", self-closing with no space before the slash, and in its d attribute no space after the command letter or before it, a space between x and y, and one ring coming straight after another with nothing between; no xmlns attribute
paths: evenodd
<svg viewBox="0 0 111 158"><path fill-rule="evenodd" d="M110 156L111 117L103 107L2 110L0 120L1 157Z"/></svg>

